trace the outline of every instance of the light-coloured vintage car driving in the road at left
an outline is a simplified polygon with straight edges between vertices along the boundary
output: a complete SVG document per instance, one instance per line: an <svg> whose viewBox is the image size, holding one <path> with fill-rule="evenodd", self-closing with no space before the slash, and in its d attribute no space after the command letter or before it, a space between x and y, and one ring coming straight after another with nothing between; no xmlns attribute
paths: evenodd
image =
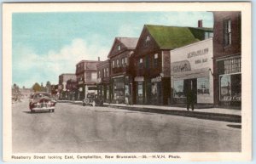
<svg viewBox="0 0 256 164"><path fill-rule="evenodd" d="M50 94L46 92L33 93L29 99L29 109L31 112L35 112L37 110L55 112L55 105L55 99L52 99Z"/></svg>

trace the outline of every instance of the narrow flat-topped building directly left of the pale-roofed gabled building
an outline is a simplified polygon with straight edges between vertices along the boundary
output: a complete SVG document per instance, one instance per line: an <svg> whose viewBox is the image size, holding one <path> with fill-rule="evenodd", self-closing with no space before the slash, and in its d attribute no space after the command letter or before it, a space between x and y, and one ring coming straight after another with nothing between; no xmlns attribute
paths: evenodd
<svg viewBox="0 0 256 164"><path fill-rule="evenodd" d="M110 103L110 61L102 61L96 65L97 69L97 89L98 95L102 97L105 103Z"/></svg>

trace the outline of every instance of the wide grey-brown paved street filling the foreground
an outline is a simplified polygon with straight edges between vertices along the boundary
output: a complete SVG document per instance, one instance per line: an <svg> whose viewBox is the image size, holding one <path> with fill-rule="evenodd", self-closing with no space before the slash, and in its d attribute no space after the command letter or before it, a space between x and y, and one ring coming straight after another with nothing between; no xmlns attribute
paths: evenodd
<svg viewBox="0 0 256 164"><path fill-rule="evenodd" d="M13 152L241 151L240 124L59 103L55 113L13 105Z"/></svg>

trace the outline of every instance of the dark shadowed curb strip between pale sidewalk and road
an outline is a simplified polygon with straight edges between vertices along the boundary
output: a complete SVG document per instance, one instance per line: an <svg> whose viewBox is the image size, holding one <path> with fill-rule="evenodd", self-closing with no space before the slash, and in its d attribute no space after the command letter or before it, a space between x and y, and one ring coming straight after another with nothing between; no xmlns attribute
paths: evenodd
<svg viewBox="0 0 256 164"><path fill-rule="evenodd" d="M239 123L241 122L241 116L230 115L230 114L188 111L188 110L161 110L161 109L152 109L152 108L135 108L135 107L129 107L129 106L109 105L109 107L119 108L123 110L137 110L142 112L159 113L159 114L172 115L172 116L195 117L198 119L206 119L206 120L213 120L213 121L239 122Z"/></svg>

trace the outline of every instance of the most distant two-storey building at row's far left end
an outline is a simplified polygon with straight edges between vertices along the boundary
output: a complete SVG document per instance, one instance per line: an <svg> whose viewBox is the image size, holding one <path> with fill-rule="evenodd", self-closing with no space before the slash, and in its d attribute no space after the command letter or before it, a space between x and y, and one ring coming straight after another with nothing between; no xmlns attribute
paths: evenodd
<svg viewBox="0 0 256 164"><path fill-rule="evenodd" d="M67 99L67 81L69 79L76 80L76 75L73 73L63 73L59 76L58 96L59 99Z"/></svg>

